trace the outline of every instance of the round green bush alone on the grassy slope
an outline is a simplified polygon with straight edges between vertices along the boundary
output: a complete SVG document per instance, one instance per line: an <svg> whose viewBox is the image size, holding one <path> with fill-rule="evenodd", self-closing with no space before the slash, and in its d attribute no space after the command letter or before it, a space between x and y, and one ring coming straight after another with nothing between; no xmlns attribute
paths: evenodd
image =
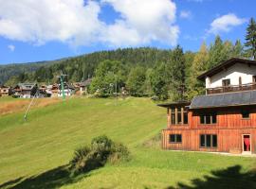
<svg viewBox="0 0 256 189"><path fill-rule="evenodd" d="M70 161L72 175L88 172L103 166L107 161L117 163L120 160L129 160L130 152L126 146L114 143L107 136L102 135L92 139L91 146L83 146L75 150Z"/></svg>

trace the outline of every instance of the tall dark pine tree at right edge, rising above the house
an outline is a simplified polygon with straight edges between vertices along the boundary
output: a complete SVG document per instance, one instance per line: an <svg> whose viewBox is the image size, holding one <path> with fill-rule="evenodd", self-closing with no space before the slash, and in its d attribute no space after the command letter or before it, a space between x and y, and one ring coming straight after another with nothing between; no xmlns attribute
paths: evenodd
<svg viewBox="0 0 256 189"><path fill-rule="evenodd" d="M246 43L247 57L256 60L256 22L253 18L249 20L247 26Z"/></svg>

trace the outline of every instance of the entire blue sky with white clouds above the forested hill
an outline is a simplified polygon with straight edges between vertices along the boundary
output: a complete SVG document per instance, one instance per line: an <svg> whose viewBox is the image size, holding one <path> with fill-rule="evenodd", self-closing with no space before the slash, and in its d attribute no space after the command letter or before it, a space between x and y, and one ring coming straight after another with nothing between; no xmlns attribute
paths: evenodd
<svg viewBox="0 0 256 189"><path fill-rule="evenodd" d="M0 0L0 64L245 41L255 0Z"/></svg>

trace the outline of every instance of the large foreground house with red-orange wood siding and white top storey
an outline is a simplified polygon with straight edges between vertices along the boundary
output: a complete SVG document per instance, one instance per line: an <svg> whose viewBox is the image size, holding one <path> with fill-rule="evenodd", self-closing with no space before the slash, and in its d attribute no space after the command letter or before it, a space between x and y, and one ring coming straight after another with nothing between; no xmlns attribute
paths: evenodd
<svg viewBox="0 0 256 189"><path fill-rule="evenodd" d="M167 109L164 149L256 153L256 61L230 59L198 77L206 94Z"/></svg>

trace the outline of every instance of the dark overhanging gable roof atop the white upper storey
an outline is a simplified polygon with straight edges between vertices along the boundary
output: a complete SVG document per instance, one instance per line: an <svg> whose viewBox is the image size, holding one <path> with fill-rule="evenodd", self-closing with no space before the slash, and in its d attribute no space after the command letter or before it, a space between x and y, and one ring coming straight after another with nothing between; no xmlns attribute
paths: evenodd
<svg viewBox="0 0 256 189"><path fill-rule="evenodd" d="M211 77L211 76L219 73L223 69L229 68L230 66L232 66L235 63L244 63L244 64L248 64L248 65L256 65L256 60L245 60L245 59L232 58L232 59L229 59L229 60L226 60L226 61L220 63L219 65L213 67L212 69L210 69L209 71L205 72L204 74L200 75L197 78L200 79L200 80L204 80L205 77Z"/></svg>

